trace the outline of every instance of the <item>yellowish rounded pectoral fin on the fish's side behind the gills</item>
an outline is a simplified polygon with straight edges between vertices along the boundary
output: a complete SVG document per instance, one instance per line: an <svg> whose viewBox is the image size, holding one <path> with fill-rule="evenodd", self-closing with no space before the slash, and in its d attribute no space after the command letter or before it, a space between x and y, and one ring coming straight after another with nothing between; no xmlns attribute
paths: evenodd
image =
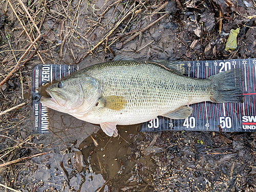
<svg viewBox="0 0 256 192"><path fill-rule="evenodd" d="M102 97L99 99L104 108L109 108L111 110L120 111L124 108L126 100L122 96L111 95L107 97Z"/></svg>

